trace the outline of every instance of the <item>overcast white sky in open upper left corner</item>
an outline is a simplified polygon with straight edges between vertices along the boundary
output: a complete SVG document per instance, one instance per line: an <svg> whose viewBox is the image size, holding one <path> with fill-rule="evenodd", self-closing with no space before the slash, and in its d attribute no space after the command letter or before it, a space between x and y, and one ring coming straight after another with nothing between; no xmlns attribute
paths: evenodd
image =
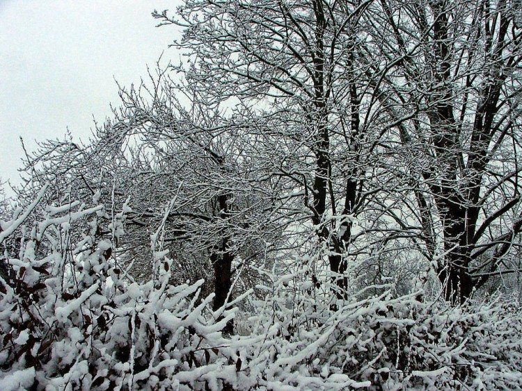
<svg viewBox="0 0 522 391"><path fill-rule="evenodd" d="M93 115L102 123L118 104L115 78L139 83L155 67L173 26L156 28L152 10L180 0L0 0L0 178L17 182L34 140L88 140Z"/></svg>

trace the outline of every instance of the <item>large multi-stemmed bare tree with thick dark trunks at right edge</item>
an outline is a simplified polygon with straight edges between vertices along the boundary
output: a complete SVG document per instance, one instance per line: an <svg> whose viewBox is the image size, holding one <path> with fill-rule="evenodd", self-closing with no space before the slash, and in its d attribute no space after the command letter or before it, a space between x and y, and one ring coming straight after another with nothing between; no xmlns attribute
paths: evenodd
<svg viewBox="0 0 522 391"><path fill-rule="evenodd" d="M437 254L445 298L464 302L491 276L520 266L519 6L380 6L383 53L404 53L382 89L390 113L409 118L397 128L414 159L406 158L406 175L421 237L429 258Z"/></svg>

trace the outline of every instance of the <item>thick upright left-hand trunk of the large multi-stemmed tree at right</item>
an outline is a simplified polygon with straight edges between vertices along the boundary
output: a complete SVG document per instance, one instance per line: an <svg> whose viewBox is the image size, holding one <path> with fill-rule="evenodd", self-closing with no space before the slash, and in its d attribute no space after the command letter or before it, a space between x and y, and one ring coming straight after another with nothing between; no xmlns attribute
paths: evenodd
<svg viewBox="0 0 522 391"><path fill-rule="evenodd" d="M432 128L436 129L434 151L441 169L441 179L432 186L435 203L443 219L443 240L445 260L439 270L439 278L445 287L444 296L451 303L464 303L473 290L469 275L468 247L468 202L466 194L459 191L459 164L461 151L459 145L459 127L454 118L452 106L452 90L446 88L446 82L451 80L450 35L448 33L449 17L444 3L432 5L434 15L434 46L433 52L437 63L434 69L436 88L434 97L437 99L435 110L431 113Z"/></svg>

